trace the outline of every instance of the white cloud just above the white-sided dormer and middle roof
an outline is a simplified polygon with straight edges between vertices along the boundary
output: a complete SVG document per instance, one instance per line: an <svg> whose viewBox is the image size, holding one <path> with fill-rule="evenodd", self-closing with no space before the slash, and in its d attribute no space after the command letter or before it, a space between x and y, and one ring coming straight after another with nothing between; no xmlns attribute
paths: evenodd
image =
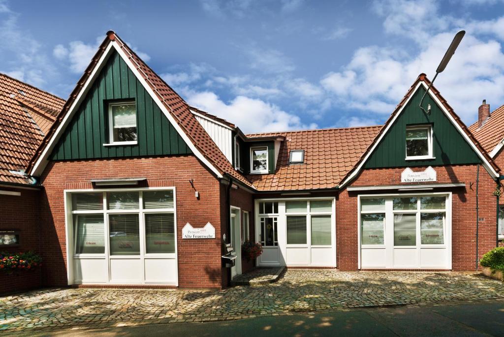
<svg viewBox="0 0 504 337"><path fill-rule="evenodd" d="M186 101L238 125L245 133L316 127L315 124L307 126L301 123L299 117L261 99L237 96L226 103L215 93L205 91L187 92Z"/></svg>

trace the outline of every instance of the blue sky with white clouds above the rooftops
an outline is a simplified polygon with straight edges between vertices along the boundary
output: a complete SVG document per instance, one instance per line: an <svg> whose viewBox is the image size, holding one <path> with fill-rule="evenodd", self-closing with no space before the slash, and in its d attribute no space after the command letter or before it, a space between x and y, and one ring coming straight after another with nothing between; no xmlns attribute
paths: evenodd
<svg viewBox="0 0 504 337"><path fill-rule="evenodd" d="M380 125L420 73L462 120L504 104L502 0L0 0L0 72L62 98L114 30L243 132Z"/></svg>

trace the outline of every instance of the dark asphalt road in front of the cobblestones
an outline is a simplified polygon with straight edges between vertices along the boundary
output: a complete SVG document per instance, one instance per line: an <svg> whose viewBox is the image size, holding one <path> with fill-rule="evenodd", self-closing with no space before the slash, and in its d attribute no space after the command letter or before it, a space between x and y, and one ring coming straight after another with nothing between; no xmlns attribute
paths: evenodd
<svg viewBox="0 0 504 337"><path fill-rule="evenodd" d="M504 302L401 306L226 322L149 324L30 336L504 336Z"/></svg>

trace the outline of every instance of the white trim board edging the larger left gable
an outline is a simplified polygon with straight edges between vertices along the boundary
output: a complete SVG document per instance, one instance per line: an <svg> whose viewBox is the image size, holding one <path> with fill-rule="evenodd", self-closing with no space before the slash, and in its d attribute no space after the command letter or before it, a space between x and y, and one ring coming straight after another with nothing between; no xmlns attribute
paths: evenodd
<svg viewBox="0 0 504 337"><path fill-rule="evenodd" d="M117 37L115 37L118 39ZM112 49L113 48L113 49ZM56 131L54 134L51 136L49 142L47 143L47 146L45 146L44 150L42 151L42 154L40 157L37 159L35 164L33 165L30 174L32 176L38 177L42 174L42 171L44 170L45 166L48 163L48 156L53 150L54 146L57 144L57 141L59 140L61 134L64 132L65 128L68 126L70 121L72 120L73 115L75 114L75 111L77 108L80 106L82 103L84 97L86 96L87 92L89 91L91 84L96 80L96 77L99 75L100 71L102 70L103 66L106 63L106 60L108 60L111 52L115 50L117 53L120 55L122 60L128 65L130 70L135 74L137 79L140 81L142 86L145 88L145 90L149 93L153 101L159 106L161 111L163 111L163 114L166 116L168 121L171 123L171 125L175 128L177 133L180 135L180 137L185 141L187 146L193 151L193 153L196 155L198 159L200 159L218 178L222 178L222 174L217 170L217 168L210 163L210 161L198 150L198 148L193 144L193 142L189 139L189 137L185 134L185 132L182 131L178 123L175 121L173 116L171 116L170 112L166 108L166 106L161 102L159 97L154 93L154 91L151 89L151 87L147 84L146 80L144 77L140 74L139 70L135 67L133 62L130 60L128 55L122 50L122 48L118 45L116 40L109 40L108 45L105 48L105 51L101 55L100 59L98 60L98 63L94 67L93 71L91 72L91 75L88 77L86 82L84 83L81 91L78 93L77 98L74 100L72 103L71 107L69 108L67 114L64 116L63 120L57 127Z"/></svg>

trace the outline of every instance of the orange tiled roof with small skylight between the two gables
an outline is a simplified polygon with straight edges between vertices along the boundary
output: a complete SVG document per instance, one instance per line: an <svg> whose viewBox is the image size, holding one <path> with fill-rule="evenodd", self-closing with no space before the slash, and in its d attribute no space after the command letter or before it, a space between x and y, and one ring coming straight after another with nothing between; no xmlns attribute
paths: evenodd
<svg viewBox="0 0 504 337"><path fill-rule="evenodd" d="M380 129L381 126L370 126L246 135L285 137L275 174L247 178L263 191L334 188L354 167ZM289 164L290 150L299 149L304 150L304 163Z"/></svg>

